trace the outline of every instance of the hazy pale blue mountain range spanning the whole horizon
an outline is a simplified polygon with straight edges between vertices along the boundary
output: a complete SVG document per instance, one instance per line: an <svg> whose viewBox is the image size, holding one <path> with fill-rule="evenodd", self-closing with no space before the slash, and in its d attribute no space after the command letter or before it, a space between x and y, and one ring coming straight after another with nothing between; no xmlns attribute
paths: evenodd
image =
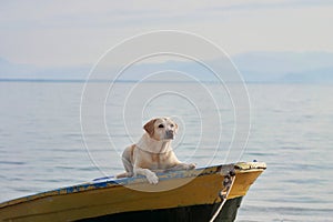
<svg viewBox="0 0 333 222"><path fill-rule="evenodd" d="M249 52L231 58L246 82L332 82L333 53L329 52ZM212 61L220 62L221 61ZM222 65L223 65L222 61ZM58 67L41 69L29 64L18 64L0 58L1 79L64 79L85 80L92 65ZM178 70L191 77L205 79L208 70L194 61L165 61L162 63L140 63L125 70L121 80L140 80L148 74L164 70ZM119 69L102 70L101 79L109 79Z"/></svg>

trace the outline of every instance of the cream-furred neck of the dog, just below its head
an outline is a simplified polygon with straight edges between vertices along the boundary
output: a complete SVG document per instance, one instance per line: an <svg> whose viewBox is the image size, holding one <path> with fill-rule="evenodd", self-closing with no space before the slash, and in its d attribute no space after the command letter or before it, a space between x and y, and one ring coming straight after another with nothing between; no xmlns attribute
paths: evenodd
<svg viewBox="0 0 333 222"><path fill-rule="evenodd" d="M171 148L171 140L163 141L163 140L155 140L151 138L148 133L144 133L140 141L137 143L139 149L151 152L151 153L167 153L172 150Z"/></svg>

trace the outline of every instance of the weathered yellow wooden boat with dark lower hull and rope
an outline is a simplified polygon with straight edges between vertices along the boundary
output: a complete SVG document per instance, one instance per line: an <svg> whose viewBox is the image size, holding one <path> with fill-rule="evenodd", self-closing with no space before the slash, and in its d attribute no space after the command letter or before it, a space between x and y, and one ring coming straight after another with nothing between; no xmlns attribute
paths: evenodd
<svg viewBox="0 0 333 222"><path fill-rule="evenodd" d="M158 173L101 178L0 203L0 221L234 221L250 185L266 169L239 162Z"/></svg>

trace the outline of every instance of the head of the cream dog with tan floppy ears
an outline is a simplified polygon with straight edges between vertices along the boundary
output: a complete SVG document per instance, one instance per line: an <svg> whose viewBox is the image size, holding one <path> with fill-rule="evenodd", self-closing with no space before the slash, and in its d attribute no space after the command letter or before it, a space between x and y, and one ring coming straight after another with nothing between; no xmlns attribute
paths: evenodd
<svg viewBox="0 0 333 222"><path fill-rule="evenodd" d="M145 123L143 129L154 140L173 140L178 124L169 118L155 118Z"/></svg>

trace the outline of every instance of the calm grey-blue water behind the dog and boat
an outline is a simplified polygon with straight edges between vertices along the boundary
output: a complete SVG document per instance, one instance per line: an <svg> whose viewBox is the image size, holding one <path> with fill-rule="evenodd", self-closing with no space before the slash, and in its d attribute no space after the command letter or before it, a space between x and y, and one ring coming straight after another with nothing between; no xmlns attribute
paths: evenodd
<svg viewBox="0 0 333 222"><path fill-rule="evenodd" d="M268 170L244 198L236 221L332 221L333 85L249 84L248 88L252 127L240 160L264 161ZM117 148L105 147L105 138L89 132L95 147L87 149L80 124L82 89L80 82L0 82L0 201L122 171L119 152L140 137L143 120L129 120L128 131L132 134L129 138L122 131L122 117L118 118L120 101L107 99L105 127ZM176 101L175 97L181 108L175 111L173 104L160 102L165 98L160 99L141 109L142 117L164 114L163 105L176 112L169 115L176 115L183 127L175 141L181 160L199 165L224 161L223 152L215 152L210 145L205 150L191 149L200 144L202 134L195 105ZM228 98L225 101L224 110L220 110L221 144L228 145L230 141L224 138L230 137L229 118L233 115ZM209 107L204 98L202 103ZM214 120L210 121L219 129ZM135 130L131 131L132 128Z"/></svg>

